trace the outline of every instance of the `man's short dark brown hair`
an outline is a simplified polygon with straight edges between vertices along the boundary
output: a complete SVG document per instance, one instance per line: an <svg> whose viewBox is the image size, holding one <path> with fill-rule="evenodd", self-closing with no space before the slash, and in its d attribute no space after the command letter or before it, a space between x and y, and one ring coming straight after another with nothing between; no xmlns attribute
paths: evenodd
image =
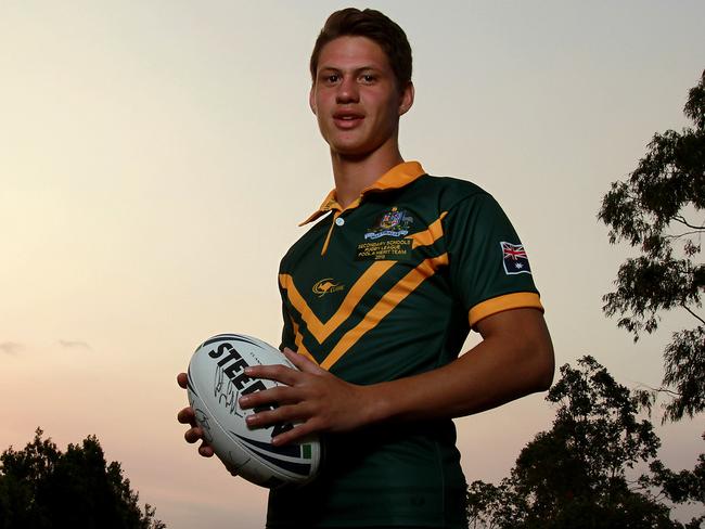
<svg viewBox="0 0 705 529"><path fill-rule="evenodd" d="M347 8L329 16L316 39L309 65L313 82L323 47L338 37L347 36L367 37L382 48L397 79L399 91L411 81L411 46L403 29L380 11Z"/></svg>

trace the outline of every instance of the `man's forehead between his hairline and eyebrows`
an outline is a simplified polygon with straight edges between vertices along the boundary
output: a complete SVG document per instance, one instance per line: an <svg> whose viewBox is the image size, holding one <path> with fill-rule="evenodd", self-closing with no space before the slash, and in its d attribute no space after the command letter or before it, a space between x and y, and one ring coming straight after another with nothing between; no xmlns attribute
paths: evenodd
<svg viewBox="0 0 705 529"><path fill-rule="evenodd" d="M367 37L345 36L331 40L319 54L318 69L390 69L382 47Z"/></svg>

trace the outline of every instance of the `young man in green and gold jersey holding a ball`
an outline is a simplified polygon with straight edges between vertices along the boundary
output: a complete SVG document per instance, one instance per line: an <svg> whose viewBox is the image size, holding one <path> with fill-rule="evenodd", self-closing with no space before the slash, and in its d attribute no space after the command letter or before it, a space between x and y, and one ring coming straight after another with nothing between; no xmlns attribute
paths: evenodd
<svg viewBox="0 0 705 529"><path fill-rule="evenodd" d="M451 418L553 376L528 260L490 195L403 162L399 118L414 92L399 26L373 10L333 13L310 68L335 189L280 268L282 348L299 371L248 369L287 387L241 404L278 402L248 423L300 422L273 442L322 434L326 457L313 482L270 493L267 527L460 528ZM483 341L458 357L471 327ZM190 409L179 421L189 442L202 438Z"/></svg>

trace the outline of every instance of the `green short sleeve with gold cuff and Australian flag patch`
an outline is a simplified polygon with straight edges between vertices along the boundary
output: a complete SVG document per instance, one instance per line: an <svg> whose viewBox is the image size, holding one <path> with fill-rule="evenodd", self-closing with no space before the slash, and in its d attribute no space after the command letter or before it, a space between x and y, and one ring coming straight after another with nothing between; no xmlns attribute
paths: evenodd
<svg viewBox="0 0 705 529"><path fill-rule="evenodd" d="M475 193L444 218L453 292L471 326L516 308L543 310L524 245L495 198Z"/></svg>

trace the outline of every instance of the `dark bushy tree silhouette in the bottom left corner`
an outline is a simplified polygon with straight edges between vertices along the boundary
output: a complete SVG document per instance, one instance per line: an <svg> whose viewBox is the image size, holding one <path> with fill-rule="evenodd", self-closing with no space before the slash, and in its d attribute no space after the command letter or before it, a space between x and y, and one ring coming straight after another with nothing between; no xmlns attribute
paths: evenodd
<svg viewBox="0 0 705 529"><path fill-rule="evenodd" d="M106 464L94 436L61 452L42 435L37 428L24 450L0 455L0 529L166 528L151 505L142 512L120 464Z"/></svg>

